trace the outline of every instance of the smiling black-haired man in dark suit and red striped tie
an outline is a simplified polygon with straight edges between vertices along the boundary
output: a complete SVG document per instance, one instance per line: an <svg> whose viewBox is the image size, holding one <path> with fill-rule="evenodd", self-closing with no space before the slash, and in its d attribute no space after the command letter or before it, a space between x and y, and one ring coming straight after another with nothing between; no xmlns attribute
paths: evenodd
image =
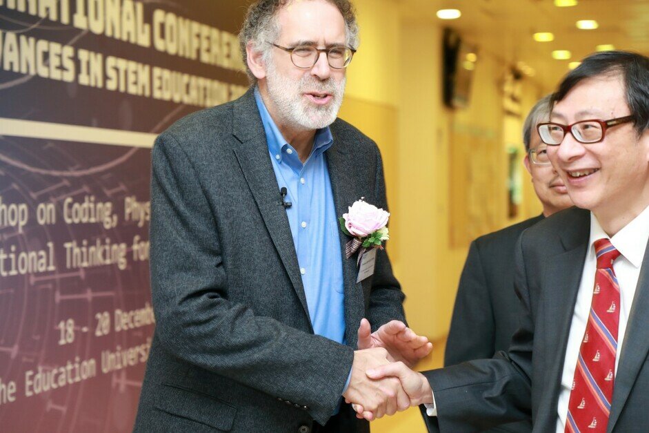
<svg viewBox="0 0 649 433"><path fill-rule="evenodd" d="M521 235L508 352L423 375L401 363L369 373L399 376L412 403L428 405L431 431L530 417L535 432L649 425L649 58L591 55L552 100L539 134L581 209Z"/></svg>

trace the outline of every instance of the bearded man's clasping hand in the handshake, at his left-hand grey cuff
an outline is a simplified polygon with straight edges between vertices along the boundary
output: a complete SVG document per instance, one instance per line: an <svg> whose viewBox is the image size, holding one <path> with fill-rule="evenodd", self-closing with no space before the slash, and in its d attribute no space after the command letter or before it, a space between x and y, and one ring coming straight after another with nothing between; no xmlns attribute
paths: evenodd
<svg viewBox="0 0 649 433"><path fill-rule="evenodd" d="M359 414L359 417L372 421L410 407L410 398L403 391L398 378L387 377L374 380L368 378L366 374L368 369L389 363L388 351L380 347L354 352L350 383L343 397L348 403L363 407L362 416Z"/></svg>

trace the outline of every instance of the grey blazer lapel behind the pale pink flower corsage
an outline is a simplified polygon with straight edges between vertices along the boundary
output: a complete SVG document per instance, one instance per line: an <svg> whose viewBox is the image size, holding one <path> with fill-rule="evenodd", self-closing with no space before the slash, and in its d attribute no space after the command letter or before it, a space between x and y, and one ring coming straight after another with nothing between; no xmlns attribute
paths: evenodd
<svg viewBox="0 0 649 433"><path fill-rule="evenodd" d="M359 182L358 175L356 175L358 169L352 164L352 158L348 155L345 140L336 133L335 125L332 125L331 131L334 144L326 151L326 156L336 215L340 218L343 213L347 213L348 206L351 206L356 200L367 194L367 191L363 191L361 185L367 185L368 180L365 180L364 183ZM357 340L355 326L361 320L358 312L365 311L363 287L360 282L356 282L358 276L356 255L351 258L345 257L345 245L350 238L342 231L339 231L339 238L345 285L346 337L348 344L355 347Z"/></svg>

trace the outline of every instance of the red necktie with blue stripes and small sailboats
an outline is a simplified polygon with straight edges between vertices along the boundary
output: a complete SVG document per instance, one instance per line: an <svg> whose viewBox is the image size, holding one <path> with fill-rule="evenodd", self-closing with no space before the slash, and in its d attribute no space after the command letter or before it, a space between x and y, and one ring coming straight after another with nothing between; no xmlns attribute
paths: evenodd
<svg viewBox="0 0 649 433"><path fill-rule="evenodd" d="M566 433L606 432L613 396L620 307L613 262L620 253L610 240L599 239L595 254L595 288L572 381Z"/></svg>

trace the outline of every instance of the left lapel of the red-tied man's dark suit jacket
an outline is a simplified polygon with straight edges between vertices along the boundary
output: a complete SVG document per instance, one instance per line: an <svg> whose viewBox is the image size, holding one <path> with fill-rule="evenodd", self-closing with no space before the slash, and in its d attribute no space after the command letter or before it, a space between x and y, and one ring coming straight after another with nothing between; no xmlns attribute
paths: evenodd
<svg viewBox="0 0 649 433"><path fill-rule="evenodd" d="M587 218L590 214L586 213ZM575 231L575 227L580 227ZM566 346L572 316L575 313L577 293L583 273L583 263L588 252L588 236L590 222L588 219L579 225L572 226L570 230L561 233L561 244L565 251L548 258L543 269L543 320L546 326L546 341L548 354L552 354L548 363L546 383L550 389L543 392L545 398L539 404L539 414L550 414L547 428L553 430L556 423L557 404L561 391L561 376L563 374L563 361L566 358ZM543 385L545 386L545 385ZM554 415L552 415L554 414Z"/></svg>

